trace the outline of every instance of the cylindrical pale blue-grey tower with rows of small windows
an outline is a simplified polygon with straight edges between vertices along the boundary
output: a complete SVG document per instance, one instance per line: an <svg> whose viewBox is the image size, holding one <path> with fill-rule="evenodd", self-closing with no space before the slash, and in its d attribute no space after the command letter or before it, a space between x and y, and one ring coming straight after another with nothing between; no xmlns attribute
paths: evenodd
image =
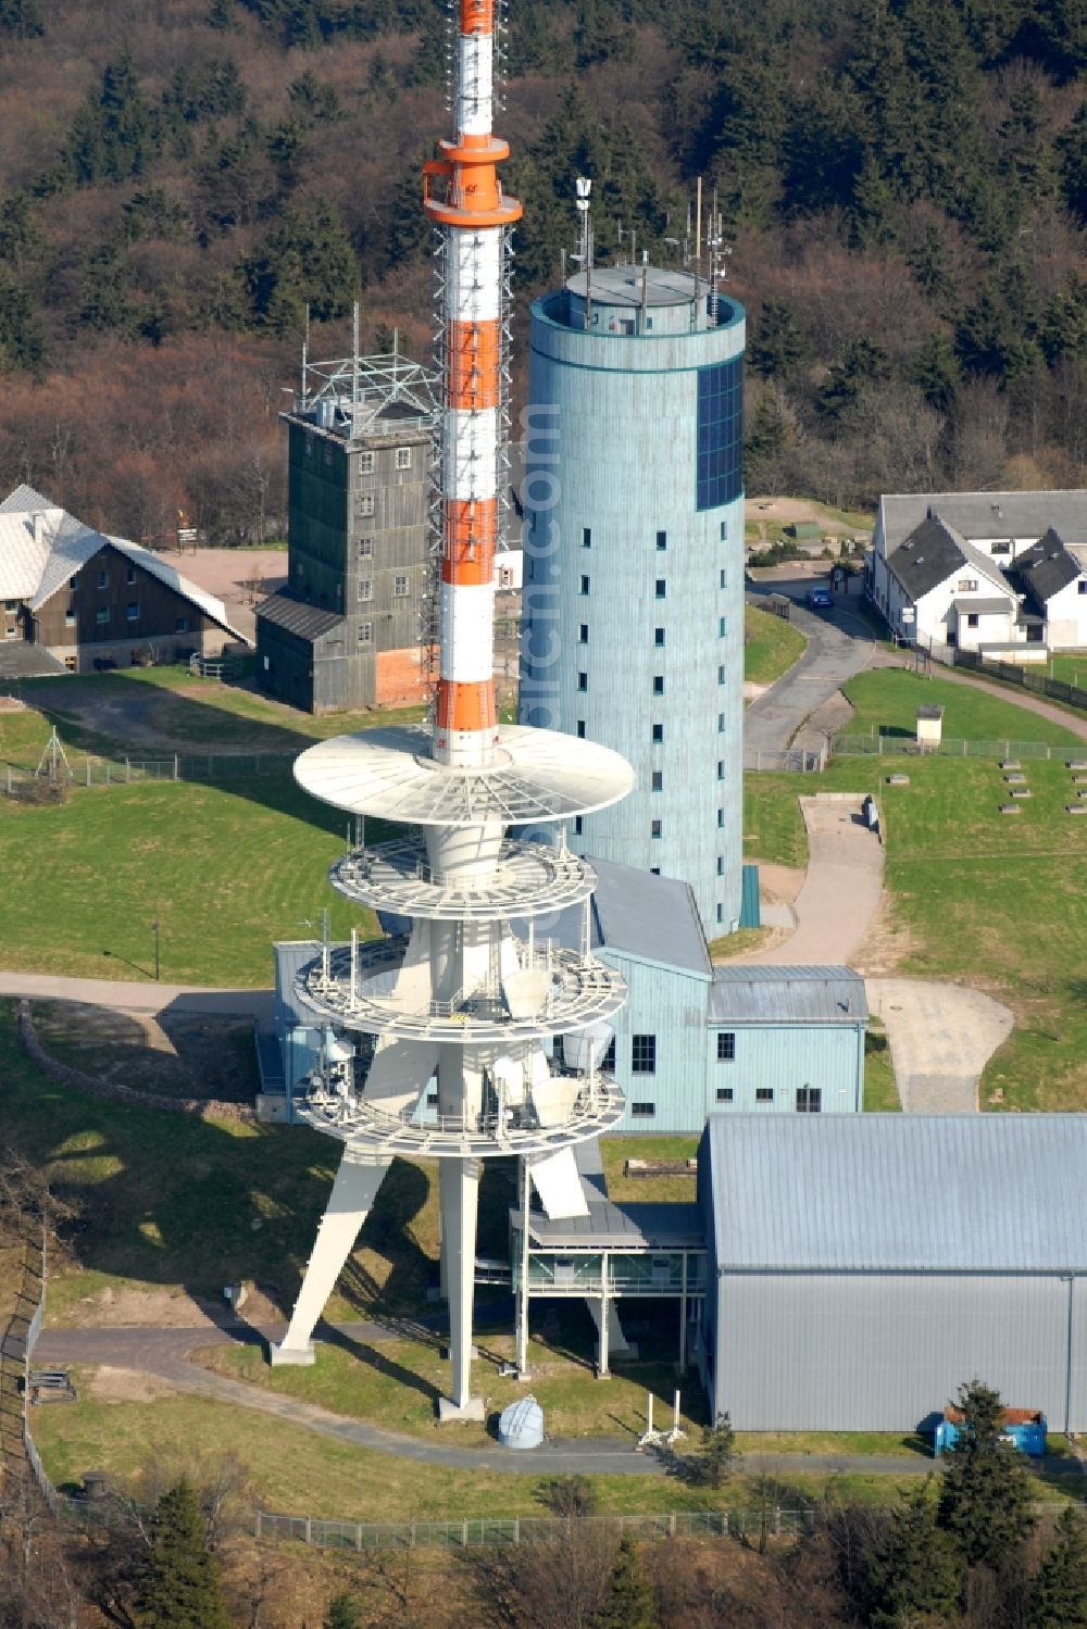
<svg viewBox="0 0 1087 1629"><path fill-rule="evenodd" d="M577 852L740 919L743 308L689 272L595 269L531 310L520 718L621 753Z"/></svg>

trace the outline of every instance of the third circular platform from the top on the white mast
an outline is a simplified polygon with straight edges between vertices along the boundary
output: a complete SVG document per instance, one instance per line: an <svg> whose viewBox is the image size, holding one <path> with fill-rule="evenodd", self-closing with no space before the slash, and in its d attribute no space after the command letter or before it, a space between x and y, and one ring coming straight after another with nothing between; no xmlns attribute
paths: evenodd
<svg viewBox="0 0 1087 1629"><path fill-rule="evenodd" d="M546 994L531 1012L512 1012L497 984L406 1008L394 997L406 950L406 938L360 945L354 979L350 950L332 950L328 973L323 955L300 968L295 994L321 1018L363 1034L495 1047L587 1030L611 1018L626 1000L626 981L614 968L577 950L548 948L520 969L548 974Z"/></svg>

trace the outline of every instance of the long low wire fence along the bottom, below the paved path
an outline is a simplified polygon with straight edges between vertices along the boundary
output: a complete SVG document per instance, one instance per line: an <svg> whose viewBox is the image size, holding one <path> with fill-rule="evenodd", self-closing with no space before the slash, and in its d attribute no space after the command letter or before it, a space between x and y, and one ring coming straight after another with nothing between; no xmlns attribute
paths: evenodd
<svg viewBox="0 0 1087 1629"><path fill-rule="evenodd" d="M637 1539L743 1538L766 1533L799 1538L815 1526L815 1510L675 1510L644 1517L575 1517L595 1526ZM487 1544L533 1544L569 1533L564 1517L476 1517L466 1521L323 1521L316 1517L256 1515L256 1538L272 1543L315 1544L323 1549L479 1549Z"/></svg>

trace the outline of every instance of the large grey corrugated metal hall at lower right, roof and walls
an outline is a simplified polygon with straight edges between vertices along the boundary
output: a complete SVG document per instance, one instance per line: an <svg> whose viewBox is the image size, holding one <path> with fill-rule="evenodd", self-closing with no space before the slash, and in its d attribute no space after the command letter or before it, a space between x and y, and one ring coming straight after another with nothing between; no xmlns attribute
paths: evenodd
<svg viewBox="0 0 1087 1629"><path fill-rule="evenodd" d="M701 1329L737 1430L914 1430L979 1377L1087 1430L1087 1116L711 1116Z"/></svg>

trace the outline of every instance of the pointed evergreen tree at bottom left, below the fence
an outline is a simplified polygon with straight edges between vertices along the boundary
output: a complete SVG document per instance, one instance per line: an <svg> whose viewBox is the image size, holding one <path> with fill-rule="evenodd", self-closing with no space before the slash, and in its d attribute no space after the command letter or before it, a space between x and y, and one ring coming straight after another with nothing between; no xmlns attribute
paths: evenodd
<svg viewBox="0 0 1087 1629"><path fill-rule="evenodd" d="M137 1595L140 1629L230 1629L207 1523L183 1476L158 1500L152 1556Z"/></svg>

